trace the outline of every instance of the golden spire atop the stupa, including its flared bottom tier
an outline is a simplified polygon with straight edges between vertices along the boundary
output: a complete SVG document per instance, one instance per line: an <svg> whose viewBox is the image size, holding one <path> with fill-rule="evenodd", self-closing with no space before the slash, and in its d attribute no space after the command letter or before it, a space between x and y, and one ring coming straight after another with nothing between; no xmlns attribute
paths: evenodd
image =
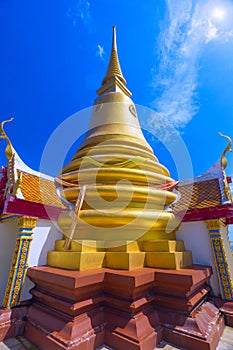
<svg viewBox="0 0 233 350"><path fill-rule="evenodd" d="M115 89L114 89L115 88ZM126 88L126 80L123 77L121 66L117 53L117 43L116 43L116 26L113 26L112 33L112 50L110 55L110 60L107 68L107 72L102 81L102 87L97 90L98 95L102 95L107 91L117 91L119 88L127 96L131 96L131 92Z"/></svg>

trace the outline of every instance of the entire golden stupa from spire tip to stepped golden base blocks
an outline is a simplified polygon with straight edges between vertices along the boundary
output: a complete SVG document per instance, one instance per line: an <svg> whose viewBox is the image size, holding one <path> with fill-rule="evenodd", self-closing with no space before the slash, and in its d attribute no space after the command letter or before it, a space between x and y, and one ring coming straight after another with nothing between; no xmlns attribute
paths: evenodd
<svg viewBox="0 0 233 350"><path fill-rule="evenodd" d="M57 179L78 211L60 215L64 239L47 264L68 269L180 268L191 252L176 241L174 180L145 140L119 64L116 27L86 138ZM82 198L80 198L80 195ZM80 204L81 203L81 204Z"/></svg>

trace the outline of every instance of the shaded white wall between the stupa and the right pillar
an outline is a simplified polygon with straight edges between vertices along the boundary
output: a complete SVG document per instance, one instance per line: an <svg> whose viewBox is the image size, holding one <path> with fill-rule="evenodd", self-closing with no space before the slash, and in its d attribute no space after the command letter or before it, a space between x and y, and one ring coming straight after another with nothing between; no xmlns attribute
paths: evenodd
<svg viewBox="0 0 233 350"><path fill-rule="evenodd" d="M192 251L194 264L212 267L213 275L210 278L210 285L214 295L219 296L218 277L214 266L209 232L205 222L183 222L176 233L176 238L184 241L186 250Z"/></svg>

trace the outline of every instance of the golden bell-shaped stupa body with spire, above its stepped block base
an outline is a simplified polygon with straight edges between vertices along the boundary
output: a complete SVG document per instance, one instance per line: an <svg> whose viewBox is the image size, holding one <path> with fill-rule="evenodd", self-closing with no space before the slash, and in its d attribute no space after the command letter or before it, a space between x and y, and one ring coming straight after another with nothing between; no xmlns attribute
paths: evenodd
<svg viewBox="0 0 233 350"><path fill-rule="evenodd" d="M165 207L176 199L176 194L163 189L173 180L145 140L135 105L125 89L114 26L110 63L93 106L89 130L59 175L65 184L61 195L73 204L80 187L87 186L79 239L99 237L92 227L119 229L128 224L132 227L127 227L129 234L124 235L132 239L132 230L165 229L173 216Z"/></svg>

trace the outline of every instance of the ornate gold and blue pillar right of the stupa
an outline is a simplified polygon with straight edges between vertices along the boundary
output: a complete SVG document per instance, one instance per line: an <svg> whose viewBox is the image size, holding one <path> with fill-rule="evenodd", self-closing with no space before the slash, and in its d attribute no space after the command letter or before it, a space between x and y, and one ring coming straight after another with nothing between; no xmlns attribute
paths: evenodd
<svg viewBox="0 0 233 350"><path fill-rule="evenodd" d="M209 230L221 298L223 300L233 300L231 267L233 258L229 249L230 242L227 237L227 227L222 219L206 220L205 223Z"/></svg>

